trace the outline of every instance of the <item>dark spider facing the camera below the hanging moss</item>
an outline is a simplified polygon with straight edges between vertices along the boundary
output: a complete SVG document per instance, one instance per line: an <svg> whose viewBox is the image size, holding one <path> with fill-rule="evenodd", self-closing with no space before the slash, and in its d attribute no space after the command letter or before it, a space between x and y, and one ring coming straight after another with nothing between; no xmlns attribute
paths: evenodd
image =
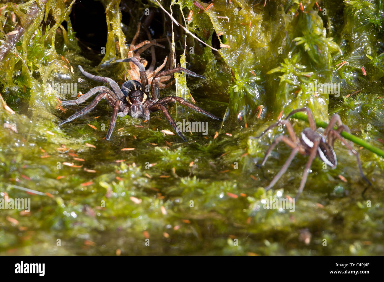
<svg viewBox="0 0 384 282"><path fill-rule="evenodd" d="M71 106L71 105L78 105L83 102L85 102L87 99L89 99L94 94L99 93L96 98L86 106L81 111L77 112L76 114L71 115L68 117L68 119L63 120L60 122L59 126L65 124L66 122L70 122L78 117L81 117L82 115L87 114L89 111L91 111L96 105L101 101L101 99L106 99L109 104L113 107L113 114L111 118L111 122L109 124L109 129L107 132L106 139L109 140L112 134L112 130L116 123L117 116L124 117L125 115L130 115L131 117L137 118L137 117L144 117L146 120L149 120L149 114L151 112L156 112L157 110L162 110L164 115L166 116L167 120L169 121L170 125L175 129L176 133L184 140L186 141L184 135L180 132L180 130L177 128L174 120L170 116L166 105L171 102L179 102L180 104L190 107L191 109L204 114L212 119L220 120L222 119L215 117L213 114L201 109L200 107L195 106L194 104L191 104L190 102L185 101L182 97L177 96L167 96L162 99L159 99L159 80L161 77L169 76L173 73L186 73L190 76L194 76L197 78L203 78L204 76L201 76L199 74L195 74L192 71L189 71L188 69L177 67L173 69L168 69L167 71L161 71L156 74L156 76L152 79L151 84L151 95L145 94L144 91L148 91L148 79L147 74L144 66L134 57L128 58L128 59L120 59L116 60L116 62L132 62L134 63L140 71L140 80L128 80L124 82L121 86L121 89L119 88L118 84L111 78L104 78L102 76L95 76L93 74L87 73L84 71L84 69L79 66L79 69L81 73L94 81L98 82L104 82L108 83L109 86L112 88L109 89L106 86L96 86L92 88L90 91L88 91L83 96L79 97L76 100L71 101L62 101L63 105L65 106Z"/></svg>

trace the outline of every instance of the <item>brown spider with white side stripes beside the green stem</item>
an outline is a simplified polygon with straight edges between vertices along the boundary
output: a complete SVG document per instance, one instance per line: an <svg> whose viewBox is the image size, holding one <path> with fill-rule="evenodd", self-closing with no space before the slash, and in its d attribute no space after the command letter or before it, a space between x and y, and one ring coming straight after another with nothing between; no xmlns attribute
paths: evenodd
<svg viewBox="0 0 384 282"><path fill-rule="evenodd" d="M288 119L295 114L296 112L303 112L305 111L308 115L308 122L310 124L310 127L305 128L301 134L300 138L298 138L295 135L295 132L293 131L293 127L291 123L288 121ZM338 124L338 128L334 129L334 126ZM297 110L293 110L288 114L288 116L279 122L276 122L275 124L272 124L270 127L268 127L262 134L260 134L257 137L250 137L252 139L258 139L262 137L268 130L276 127L277 125L285 125L286 129L288 130L289 137L285 135L279 135L276 137L276 139L273 141L272 145L268 148L268 150L265 153L265 156L263 158L263 161L258 167L263 166L270 155L271 151L275 146L283 141L288 146L290 146L293 150L288 157L288 159L285 161L283 167L281 170L277 173L275 178L271 181L270 185L268 185L265 190L269 190L273 187L273 185L276 184L276 182L280 179L280 177L286 172L288 169L290 163L292 162L293 158L295 158L297 153L301 153L302 155L309 155L308 162L305 166L305 170L303 173L303 177L300 182L299 190L296 194L296 198L301 194L301 192L304 189L305 183L307 181L308 173L310 172L310 168L312 165L312 162L316 156L321 158L326 165L329 165L329 167L336 168L337 161L336 161L336 154L333 150L334 141L336 139L339 139L341 143L343 143L349 151L351 151L355 156L358 163L358 167L360 170L361 177L369 183L369 185L372 185L371 182L364 176L364 173L362 172L361 162L359 153L356 152L352 146L351 143L349 143L347 140L345 140L340 134L343 130L346 132L350 132L348 126L344 125L341 122L340 116L338 114L334 114L326 127L326 129L321 133L320 130L316 130L316 122L314 120L313 114L311 109L309 108L301 108Z"/></svg>

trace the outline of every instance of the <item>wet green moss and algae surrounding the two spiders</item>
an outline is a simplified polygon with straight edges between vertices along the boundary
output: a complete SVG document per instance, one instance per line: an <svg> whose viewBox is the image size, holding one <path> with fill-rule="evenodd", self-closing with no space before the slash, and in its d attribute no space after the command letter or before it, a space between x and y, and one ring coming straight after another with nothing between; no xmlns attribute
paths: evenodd
<svg viewBox="0 0 384 282"><path fill-rule="evenodd" d="M156 0L85 2L0 4L0 199L31 199L29 213L0 209L1 255L384 254L382 1L160 1L179 26ZM224 121L171 104L176 122L208 122L207 134L182 142L155 112L118 117L107 141L112 109L102 101L58 127L91 100L60 101L101 85L78 65L119 85L129 78L114 61L129 57L139 23L165 46L141 54L147 68L154 51L155 67L169 56L206 77L177 74L160 96ZM147 36L143 28L136 44ZM265 198L296 194L307 157L265 191L291 150L280 144L255 164L285 129L249 137L305 106L319 127L341 116L372 186L336 142L337 168L314 160L294 212L265 209ZM305 119L291 119L295 132Z"/></svg>

